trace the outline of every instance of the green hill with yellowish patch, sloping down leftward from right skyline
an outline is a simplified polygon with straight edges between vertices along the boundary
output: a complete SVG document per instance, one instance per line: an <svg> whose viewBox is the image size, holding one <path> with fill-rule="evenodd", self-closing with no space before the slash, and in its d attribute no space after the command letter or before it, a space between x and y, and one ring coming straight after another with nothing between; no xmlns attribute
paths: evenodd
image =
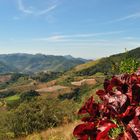
<svg viewBox="0 0 140 140"><path fill-rule="evenodd" d="M84 64L77 65L71 70L65 72L60 78L57 79L59 84L68 85L73 80L94 77L95 75L102 76L104 74L111 74L112 65L119 66L120 62L126 57L135 58L140 64L140 47L130 50L126 53L111 55L110 57L101 58L95 61L88 61Z"/></svg>

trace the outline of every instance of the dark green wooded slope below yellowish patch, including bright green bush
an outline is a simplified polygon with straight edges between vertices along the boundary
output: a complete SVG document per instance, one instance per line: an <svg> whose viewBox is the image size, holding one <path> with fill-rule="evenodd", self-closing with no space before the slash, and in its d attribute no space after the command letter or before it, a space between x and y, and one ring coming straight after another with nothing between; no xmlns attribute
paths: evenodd
<svg viewBox="0 0 140 140"><path fill-rule="evenodd" d="M126 57L130 59L126 60ZM125 62L122 60L125 60ZM105 75L114 75L120 72L119 70L120 63L122 67L124 65L125 68L126 68L126 65L129 63L129 66L127 65L129 69L131 66L137 67L140 64L140 47L132 51L128 51L127 54L122 53L122 54L112 55L107 58L102 58L98 60L98 63L96 63L95 65L90 65L90 67L87 67L86 69L81 69L77 71L76 74L80 76L84 76L84 75L90 76L90 75L96 74L97 72L101 72L101 73L104 73ZM112 70L112 67L113 67L113 70ZM123 71L126 71L126 70L123 70L122 68L121 72Z"/></svg>

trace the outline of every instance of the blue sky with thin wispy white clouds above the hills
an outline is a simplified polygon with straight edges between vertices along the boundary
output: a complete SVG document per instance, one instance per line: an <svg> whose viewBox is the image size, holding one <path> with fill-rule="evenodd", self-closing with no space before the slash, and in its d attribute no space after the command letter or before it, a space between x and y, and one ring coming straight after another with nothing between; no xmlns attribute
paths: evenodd
<svg viewBox="0 0 140 140"><path fill-rule="evenodd" d="M101 58L140 46L140 0L0 0L0 54Z"/></svg>

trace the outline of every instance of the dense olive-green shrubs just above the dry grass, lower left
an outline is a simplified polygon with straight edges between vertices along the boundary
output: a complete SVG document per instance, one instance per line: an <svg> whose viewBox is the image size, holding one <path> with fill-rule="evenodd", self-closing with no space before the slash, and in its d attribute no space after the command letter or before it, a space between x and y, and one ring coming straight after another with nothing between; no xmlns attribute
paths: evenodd
<svg viewBox="0 0 140 140"><path fill-rule="evenodd" d="M16 109L1 114L0 124L5 129L5 136L11 133L14 136L28 135L54 126L60 126L66 121L73 121L76 117L76 104L73 101L35 99L32 102L23 102ZM4 135L3 134L3 135Z"/></svg>

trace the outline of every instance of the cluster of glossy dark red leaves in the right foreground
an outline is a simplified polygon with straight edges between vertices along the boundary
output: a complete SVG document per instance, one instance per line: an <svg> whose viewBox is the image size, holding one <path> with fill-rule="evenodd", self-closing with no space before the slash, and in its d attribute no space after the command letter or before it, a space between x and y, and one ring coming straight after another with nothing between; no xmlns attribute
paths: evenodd
<svg viewBox="0 0 140 140"><path fill-rule="evenodd" d="M104 81L104 90L91 97L79 110L83 124L73 131L78 140L140 140L140 76L125 74ZM111 130L122 127L113 138Z"/></svg>

